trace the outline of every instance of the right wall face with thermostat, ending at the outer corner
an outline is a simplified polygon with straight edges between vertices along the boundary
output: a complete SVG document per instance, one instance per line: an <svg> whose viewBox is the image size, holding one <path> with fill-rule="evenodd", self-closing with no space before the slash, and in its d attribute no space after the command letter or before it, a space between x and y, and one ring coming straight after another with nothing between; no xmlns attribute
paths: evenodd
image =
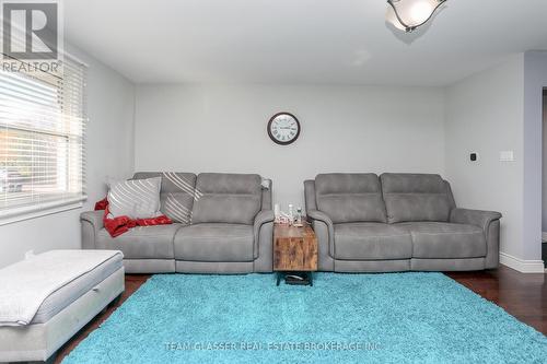
<svg viewBox="0 0 547 364"><path fill-rule="evenodd" d="M454 197L461 207L500 211L501 250L515 257L523 256L523 55L446 91L445 167ZM499 161L508 150L515 162Z"/></svg>

